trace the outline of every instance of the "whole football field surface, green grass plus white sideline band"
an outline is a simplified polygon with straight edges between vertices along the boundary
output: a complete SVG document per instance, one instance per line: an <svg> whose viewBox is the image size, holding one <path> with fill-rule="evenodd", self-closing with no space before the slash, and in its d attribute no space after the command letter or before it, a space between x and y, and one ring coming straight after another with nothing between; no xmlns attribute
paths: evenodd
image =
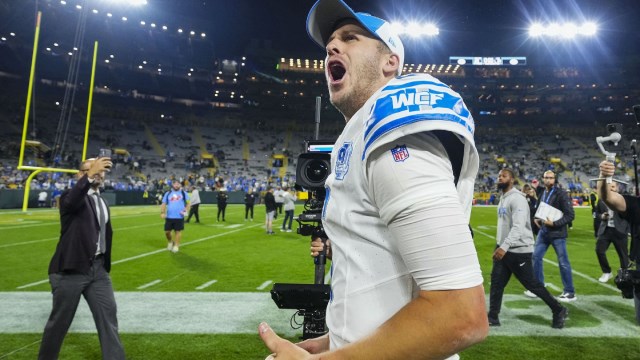
<svg viewBox="0 0 640 360"><path fill-rule="evenodd" d="M240 205L227 208L226 222L217 222L215 212L213 205L202 206L201 224L186 225L180 252L172 254L166 250L159 207L112 207L111 276L130 359L262 360L268 350L256 334L261 321L292 340L301 335L290 326L294 310L278 309L269 290L277 282L313 282L308 238L295 230L267 236L261 205L256 206L254 222L244 221ZM495 212L495 207L475 207L472 214L487 293ZM279 228L281 220L274 227ZM51 309L47 266L59 228L55 210L0 211L0 359L37 356ZM601 271L594 248L590 209L577 208L568 251L578 300L568 305L565 329L552 329L549 309L541 300L524 297L524 288L512 279L502 326L491 328L488 339L463 352L462 358L640 359L633 301L622 299L612 281L597 281ZM609 261L612 268L619 266L613 247ZM562 285L553 249L544 266L548 289L559 295ZM60 356L100 358L84 301Z"/></svg>

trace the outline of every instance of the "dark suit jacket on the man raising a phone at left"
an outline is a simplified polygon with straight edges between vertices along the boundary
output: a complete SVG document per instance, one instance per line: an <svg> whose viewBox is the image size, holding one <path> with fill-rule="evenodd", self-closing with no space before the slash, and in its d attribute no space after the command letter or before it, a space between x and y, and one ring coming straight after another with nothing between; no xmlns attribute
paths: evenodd
<svg viewBox="0 0 640 360"><path fill-rule="evenodd" d="M87 195L89 188L89 177L85 174L72 189L65 190L60 197L60 240L49 263L49 274L63 271L88 272L91 268L97 250L100 223L96 217L95 205ZM109 272L113 237L110 212L106 227L104 268Z"/></svg>

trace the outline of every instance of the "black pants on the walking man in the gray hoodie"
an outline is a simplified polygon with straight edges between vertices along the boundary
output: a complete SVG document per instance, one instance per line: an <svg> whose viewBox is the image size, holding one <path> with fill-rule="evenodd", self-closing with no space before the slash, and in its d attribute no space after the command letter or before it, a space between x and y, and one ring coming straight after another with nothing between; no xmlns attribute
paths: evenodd
<svg viewBox="0 0 640 360"><path fill-rule="evenodd" d="M532 253L513 253L507 252L502 260L493 261L493 269L491 270L491 288L489 290L489 316L497 318L502 307L502 296L504 288L511 279L511 274L532 293L538 295L542 301L547 304L554 313L558 313L562 309L562 305L556 300L544 285L533 276L533 263L531 262Z"/></svg>

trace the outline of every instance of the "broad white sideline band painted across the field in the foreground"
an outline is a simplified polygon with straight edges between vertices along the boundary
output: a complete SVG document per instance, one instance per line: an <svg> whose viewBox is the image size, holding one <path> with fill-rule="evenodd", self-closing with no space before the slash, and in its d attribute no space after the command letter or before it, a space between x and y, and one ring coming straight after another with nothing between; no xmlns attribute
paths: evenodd
<svg viewBox="0 0 640 360"><path fill-rule="evenodd" d="M266 292L116 292L118 327L128 334L256 334L266 321L278 333L300 335L290 327L296 310L281 310ZM489 296L487 296L488 301ZM24 306L15 306L24 304ZM524 306L523 306L524 304ZM609 310L607 304L623 309ZM619 337L640 339L634 324L633 301L613 295L585 295L568 304L570 317L562 330L552 330L551 311L539 299L506 294L500 320L490 336ZM592 321L578 326L571 310L580 309ZM626 313L628 311L628 317ZM51 312L51 293L44 291L0 292L0 333L41 333ZM144 319L144 321L141 321ZM86 301L80 301L69 332L96 333Z"/></svg>

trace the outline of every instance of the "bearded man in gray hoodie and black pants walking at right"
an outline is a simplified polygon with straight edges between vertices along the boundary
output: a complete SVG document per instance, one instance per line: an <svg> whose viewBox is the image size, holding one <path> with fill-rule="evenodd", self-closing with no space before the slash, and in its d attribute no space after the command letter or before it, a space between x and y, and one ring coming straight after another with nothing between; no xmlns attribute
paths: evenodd
<svg viewBox="0 0 640 360"><path fill-rule="evenodd" d="M514 182L515 177L511 169L500 170L496 185L502 194L498 203L497 244L493 252L489 290L489 325L500 326L498 315L502 307L502 296L513 274L527 290L536 294L551 308L551 327L562 329L569 316L569 310L533 275L531 257L534 240L529 204L525 195L513 187Z"/></svg>

